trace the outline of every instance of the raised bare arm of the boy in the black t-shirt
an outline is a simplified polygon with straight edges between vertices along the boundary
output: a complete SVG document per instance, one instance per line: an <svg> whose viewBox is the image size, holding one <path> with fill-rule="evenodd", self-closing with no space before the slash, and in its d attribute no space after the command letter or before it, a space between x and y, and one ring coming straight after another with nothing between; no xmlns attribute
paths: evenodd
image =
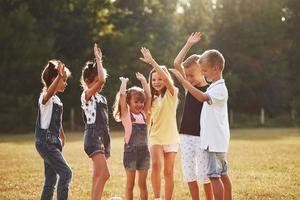
<svg viewBox="0 0 300 200"><path fill-rule="evenodd" d="M184 67L182 66L182 63L186 57L186 54L191 49L191 47L197 42L199 42L200 40L201 40L200 32L192 33L174 60L175 69L177 69L184 78L186 78L186 76L185 76Z"/></svg>

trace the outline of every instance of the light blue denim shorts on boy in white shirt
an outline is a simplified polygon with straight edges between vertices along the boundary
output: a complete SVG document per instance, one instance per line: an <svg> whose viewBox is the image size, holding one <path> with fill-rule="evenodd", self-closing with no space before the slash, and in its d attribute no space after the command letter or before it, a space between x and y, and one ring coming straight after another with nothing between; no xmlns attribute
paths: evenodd
<svg viewBox="0 0 300 200"><path fill-rule="evenodd" d="M209 178L220 178L223 175L227 175L227 153L208 151L207 154L207 176Z"/></svg>

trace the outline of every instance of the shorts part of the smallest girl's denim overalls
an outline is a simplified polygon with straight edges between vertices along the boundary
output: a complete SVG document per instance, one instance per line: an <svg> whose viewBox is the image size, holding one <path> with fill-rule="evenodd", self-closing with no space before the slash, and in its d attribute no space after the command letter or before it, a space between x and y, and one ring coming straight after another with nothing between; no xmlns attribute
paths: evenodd
<svg viewBox="0 0 300 200"><path fill-rule="evenodd" d="M148 170L150 152L148 146L124 145L123 165L126 170Z"/></svg>

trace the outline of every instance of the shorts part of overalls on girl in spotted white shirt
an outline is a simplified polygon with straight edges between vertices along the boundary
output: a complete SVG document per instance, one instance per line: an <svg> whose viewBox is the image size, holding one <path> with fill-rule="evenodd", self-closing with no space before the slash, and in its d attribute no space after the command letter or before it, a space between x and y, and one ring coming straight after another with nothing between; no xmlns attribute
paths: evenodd
<svg viewBox="0 0 300 200"><path fill-rule="evenodd" d="M94 128L87 128L84 131L84 151L90 158L96 153L105 154L103 140Z"/></svg>

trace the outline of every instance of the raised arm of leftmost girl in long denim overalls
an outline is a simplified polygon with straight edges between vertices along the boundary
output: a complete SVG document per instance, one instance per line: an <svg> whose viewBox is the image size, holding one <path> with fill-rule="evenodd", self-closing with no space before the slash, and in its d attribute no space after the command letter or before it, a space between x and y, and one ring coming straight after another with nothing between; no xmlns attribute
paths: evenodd
<svg viewBox="0 0 300 200"><path fill-rule="evenodd" d="M43 104L46 104L47 101L57 92L57 86L59 81L64 77L66 77L65 65L61 62L58 62L57 68L58 68L58 74L54 79L54 81L51 83L51 85L48 87L46 94L43 97L43 101L42 101Z"/></svg>

